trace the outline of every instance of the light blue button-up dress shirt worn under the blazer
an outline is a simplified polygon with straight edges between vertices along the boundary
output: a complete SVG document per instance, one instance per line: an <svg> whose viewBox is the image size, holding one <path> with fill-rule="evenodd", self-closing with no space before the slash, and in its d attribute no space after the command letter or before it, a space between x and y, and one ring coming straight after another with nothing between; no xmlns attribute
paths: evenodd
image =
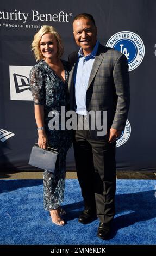
<svg viewBox="0 0 156 256"><path fill-rule="evenodd" d="M76 99L76 113L86 115L86 90L91 73L91 69L96 57L99 42L96 42L93 51L86 57L83 54L82 48L78 52L78 62L74 70L74 87Z"/></svg>

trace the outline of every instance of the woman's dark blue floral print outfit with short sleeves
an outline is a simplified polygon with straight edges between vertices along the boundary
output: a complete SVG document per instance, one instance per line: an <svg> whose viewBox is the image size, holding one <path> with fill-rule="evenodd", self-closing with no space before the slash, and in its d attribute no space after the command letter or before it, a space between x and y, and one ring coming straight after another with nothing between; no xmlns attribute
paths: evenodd
<svg viewBox="0 0 156 256"><path fill-rule="evenodd" d="M55 173L45 170L43 173L44 208L45 210L57 209L64 198L66 154L71 145L71 132L68 130L50 130L49 121L54 111L61 113L61 106L66 111L69 107L68 98L68 63L61 60L65 70L65 82L58 77L51 67L41 60L30 71L29 82L32 90L34 104L44 105L45 132L48 137L49 147L59 152L59 161ZM51 117L48 117L51 112ZM60 127L60 123L59 123Z"/></svg>

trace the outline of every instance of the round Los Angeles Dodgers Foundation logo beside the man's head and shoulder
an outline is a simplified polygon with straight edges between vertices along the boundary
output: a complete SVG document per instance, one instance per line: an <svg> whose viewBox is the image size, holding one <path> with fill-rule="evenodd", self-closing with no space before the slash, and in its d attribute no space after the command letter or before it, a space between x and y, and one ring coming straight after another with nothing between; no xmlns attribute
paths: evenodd
<svg viewBox="0 0 156 256"><path fill-rule="evenodd" d="M106 46L123 53L128 60L129 71L141 64L145 55L145 46L139 35L130 31L121 31L108 40Z"/></svg>

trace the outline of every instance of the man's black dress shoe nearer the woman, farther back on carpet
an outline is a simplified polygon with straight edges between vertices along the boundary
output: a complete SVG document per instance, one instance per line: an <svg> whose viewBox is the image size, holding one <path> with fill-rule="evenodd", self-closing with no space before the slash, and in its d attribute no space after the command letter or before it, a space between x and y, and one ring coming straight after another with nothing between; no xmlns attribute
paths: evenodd
<svg viewBox="0 0 156 256"><path fill-rule="evenodd" d="M80 214L78 222L82 224L88 224L91 221L97 218L96 212L91 209L84 209L84 211Z"/></svg>

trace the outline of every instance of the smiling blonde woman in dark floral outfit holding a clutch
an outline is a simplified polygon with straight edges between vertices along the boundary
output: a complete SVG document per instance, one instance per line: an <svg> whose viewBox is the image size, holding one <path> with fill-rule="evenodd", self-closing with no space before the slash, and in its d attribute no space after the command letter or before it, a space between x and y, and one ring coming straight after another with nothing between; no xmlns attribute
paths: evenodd
<svg viewBox="0 0 156 256"><path fill-rule="evenodd" d="M44 208L50 212L52 222L63 226L61 215L65 213L60 205L64 198L66 153L71 144L67 130L50 130L49 112L60 113L61 106L68 110L68 66L61 60L63 45L60 35L52 26L44 25L35 34L32 50L36 61L40 61L30 71L29 81L34 100L35 119L38 127L38 145L59 151L59 162L55 173L45 170L43 173ZM59 124L60 125L60 124Z"/></svg>

